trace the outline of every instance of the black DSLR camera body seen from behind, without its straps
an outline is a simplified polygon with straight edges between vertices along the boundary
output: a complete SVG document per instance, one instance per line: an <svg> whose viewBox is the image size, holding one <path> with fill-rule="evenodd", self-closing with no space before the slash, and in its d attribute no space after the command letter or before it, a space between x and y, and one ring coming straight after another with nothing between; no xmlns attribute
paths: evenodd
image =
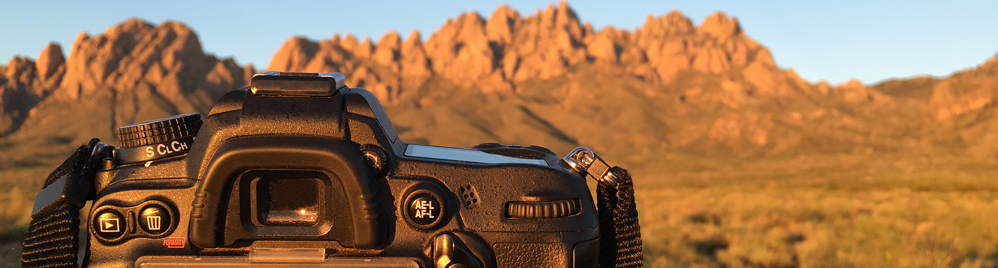
<svg viewBox="0 0 998 268"><path fill-rule="evenodd" d="M267 72L118 130L90 267L596 267L585 177L541 146L408 144L338 73Z"/></svg>

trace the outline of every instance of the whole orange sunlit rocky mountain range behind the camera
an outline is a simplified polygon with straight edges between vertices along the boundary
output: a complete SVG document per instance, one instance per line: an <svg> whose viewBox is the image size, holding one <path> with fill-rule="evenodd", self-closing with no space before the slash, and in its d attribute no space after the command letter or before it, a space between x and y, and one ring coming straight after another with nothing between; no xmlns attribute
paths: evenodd
<svg viewBox="0 0 998 268"><path fill-rule="evenodd" d="M345 74L381 99L409 142L560 154L581 144L649 170L675 157L998 152L998 57L946 78L814 83L777 67L722 12L700 24L674 10L633 30L593 29L565 2L533 14L502 5L425 39L292 37L265 70L207 54L172 21L81 33L70 52L50 44L0 67L0 172L37 176L91 136L114 141L119 126L205 113L269 70Z"/></svg>

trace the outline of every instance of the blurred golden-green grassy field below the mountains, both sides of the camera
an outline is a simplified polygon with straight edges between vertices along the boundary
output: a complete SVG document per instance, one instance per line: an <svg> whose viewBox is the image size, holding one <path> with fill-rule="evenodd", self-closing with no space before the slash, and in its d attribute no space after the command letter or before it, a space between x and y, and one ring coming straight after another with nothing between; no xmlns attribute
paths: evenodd
<svg viewBox="0 0 998 268"><path fill-rule="evenodd" d="M664 159L635 169L648 267L998 267L995 162ZM0 193L0 266L18 266L31 195Z"/></svg>

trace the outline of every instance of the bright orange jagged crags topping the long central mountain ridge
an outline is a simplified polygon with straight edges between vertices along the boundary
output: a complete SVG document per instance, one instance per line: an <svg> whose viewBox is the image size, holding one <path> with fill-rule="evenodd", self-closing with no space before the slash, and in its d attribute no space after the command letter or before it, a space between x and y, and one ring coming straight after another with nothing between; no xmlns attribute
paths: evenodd
<svg viewBox="0 0 998 268"><path fill-rule="evenodd" d="M779 92L773 81L785 79L768 50L724 13L713 14L700 27L677 10L648 17L634 32L613 27L596 31L580 23L565 2L526 17L505 5L487 19L463 13L425 44L418 31L404 41L389 32L377 43L369 38L358 42L352 35L318 42L291 38L267 70L351 74L351 85L394 103L434 75L465 89L514 94L527 80L558 78L581 63L622 69L650 85L668 85L688 70L727 80L745 76L746 86L763 94Z"/></svg>

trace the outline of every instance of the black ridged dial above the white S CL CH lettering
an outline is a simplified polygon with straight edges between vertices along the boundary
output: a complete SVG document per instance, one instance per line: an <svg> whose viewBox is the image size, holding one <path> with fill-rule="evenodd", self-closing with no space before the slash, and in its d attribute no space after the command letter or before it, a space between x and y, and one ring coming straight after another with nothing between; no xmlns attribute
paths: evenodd
<svg viewBox="0 0 998 268"><path fill-rule="evenodd" d="M119 148L131 148L198 134L201 115L184 114L118 128Z"/></svg>

